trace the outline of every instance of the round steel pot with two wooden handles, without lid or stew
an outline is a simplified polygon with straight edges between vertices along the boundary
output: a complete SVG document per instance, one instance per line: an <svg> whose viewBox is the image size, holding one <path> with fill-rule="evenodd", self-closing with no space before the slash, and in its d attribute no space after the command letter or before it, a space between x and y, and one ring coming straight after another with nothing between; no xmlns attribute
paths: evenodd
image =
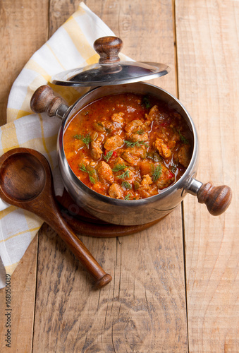
<svg viewBox="0 0 239 353"><path fill-rule="evenodd" d="M183 176L173 185L159 193L159 195L140 200L117 200L103 196L85 186L69 166L63 148L63 134L68 122L82 107L105 95L123 92L154 95L163 100L168 107L180 113L192 131L192 158ZM94 88L80 97L71 107L63 104L60 97L55 97L49 86L39 88L32 97L32 110L47 112L49 116L58 116L62 125L57 140L59 169L63 184L73 200L100 220L116 225L142 225L164 217L183 201L187 193L197 196L200 203L206 203L209 213L221 215L231 203L231 189L228 186L214 187L212 184L202 184L195 179L198 163L197 132L183 104L170 93L148 83L131 83L128 85L102 86Z"/></svg>

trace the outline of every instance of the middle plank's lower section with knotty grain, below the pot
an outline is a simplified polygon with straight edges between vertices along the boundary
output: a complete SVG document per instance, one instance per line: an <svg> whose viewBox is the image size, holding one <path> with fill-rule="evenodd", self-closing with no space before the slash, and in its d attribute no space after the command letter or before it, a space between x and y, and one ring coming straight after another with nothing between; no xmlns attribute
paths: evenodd
<svg viewBox="0 0 239 353"><path fill-rule="evenodd" d="M125 238L80 237L113 275L98 292L49 229L39 244L33 352L187 352L176 221Z"/></svg>

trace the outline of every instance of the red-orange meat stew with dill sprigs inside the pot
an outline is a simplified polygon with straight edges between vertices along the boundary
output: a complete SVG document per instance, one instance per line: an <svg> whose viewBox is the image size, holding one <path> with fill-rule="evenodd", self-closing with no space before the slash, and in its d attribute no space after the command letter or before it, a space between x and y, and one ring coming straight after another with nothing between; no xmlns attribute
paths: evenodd
<svg viewBox="0 0 239 353"><path fill-rule="evenodd" d="M157 195L185 172L192 134L185 120L151 96L103 97L68 124L63 145L75 175L121 200Z"/></svg>

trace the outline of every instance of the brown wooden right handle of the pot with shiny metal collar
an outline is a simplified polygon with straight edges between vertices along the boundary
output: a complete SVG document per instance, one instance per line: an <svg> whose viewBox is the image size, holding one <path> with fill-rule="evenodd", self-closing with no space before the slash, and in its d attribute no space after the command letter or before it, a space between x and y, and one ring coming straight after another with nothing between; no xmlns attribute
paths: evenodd
<svg viewBox="0 0 239 353"><path fill-rule="evenodd" d="M210 181L202 184L196 179L190 181L188 193L197 196L199 203L205 203L209 213L214 216L219 216L225 212L232 198L232 191L229 186L213 186Z"/></svg>

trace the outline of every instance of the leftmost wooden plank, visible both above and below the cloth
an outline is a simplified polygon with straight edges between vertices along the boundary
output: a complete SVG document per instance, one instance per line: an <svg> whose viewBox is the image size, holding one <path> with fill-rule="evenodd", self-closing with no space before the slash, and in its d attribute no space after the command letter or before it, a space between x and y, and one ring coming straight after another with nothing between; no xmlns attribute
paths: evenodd
<svg viewBox="0 0 239 353"><path fill-rule="evenodd" d="M0 124L6 122L11 85L30 56L47 39L48 1L1 1ZM0 350L30 352L35 311L38 237L30 244L11 277L11 349L5 346L5 289L0 291Z"/></svg>

